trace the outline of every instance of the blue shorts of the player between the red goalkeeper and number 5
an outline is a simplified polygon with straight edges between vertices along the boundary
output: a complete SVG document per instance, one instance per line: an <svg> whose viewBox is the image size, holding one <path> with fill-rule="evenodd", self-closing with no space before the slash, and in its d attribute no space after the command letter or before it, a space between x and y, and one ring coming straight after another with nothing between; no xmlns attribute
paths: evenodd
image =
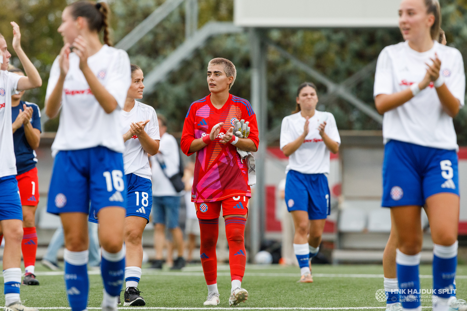
<svg viewBox="0 0 467 311"><path fill-rule="evenodd" d="M308 219L326 219L331 213L329 185L324 174L289 170L285 179L287 210L308 212Z"/></svg>

